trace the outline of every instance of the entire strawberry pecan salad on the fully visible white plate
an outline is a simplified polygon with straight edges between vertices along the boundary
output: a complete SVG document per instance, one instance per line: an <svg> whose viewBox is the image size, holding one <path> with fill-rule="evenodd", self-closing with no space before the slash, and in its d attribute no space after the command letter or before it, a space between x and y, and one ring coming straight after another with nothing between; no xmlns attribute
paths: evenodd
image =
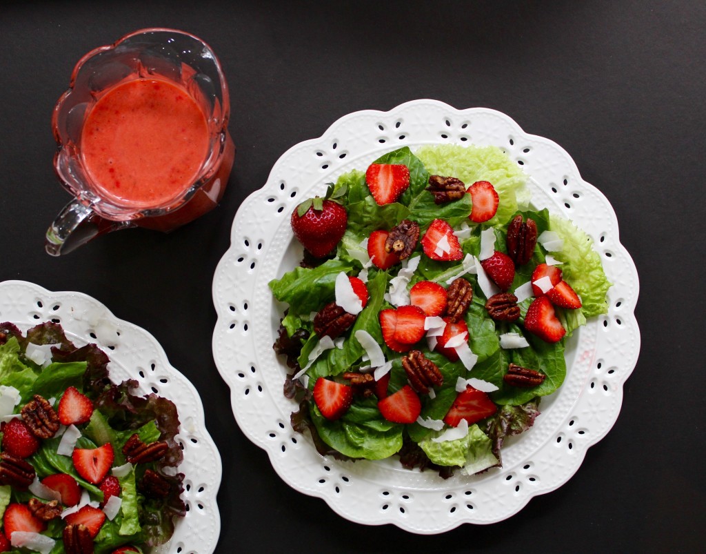
<svg viewBox="0 0 706 554"><path fill-rule="evenodd" d="M590 237L530 204L494 146L386 153L291 216L299 267L275 350L295 430L337 459L443 477L501 466L566 376L567 339L607 312Z"/></svg>

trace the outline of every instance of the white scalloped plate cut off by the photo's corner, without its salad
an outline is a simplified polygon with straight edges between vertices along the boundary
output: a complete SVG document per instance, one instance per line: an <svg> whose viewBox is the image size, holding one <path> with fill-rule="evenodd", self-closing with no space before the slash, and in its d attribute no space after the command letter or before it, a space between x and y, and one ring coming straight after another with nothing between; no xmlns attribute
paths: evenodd
<svg viewBox="0 0 706 554"><path fill-rule="evenodd" d="M155 392L172 400L179 410L177 442L184 447L186 517L179 519L169 543L155 553L213 553L220 534L216 495L221 459L205 427L203 404L191 382L169 365L157 340L140 327L116 318L107 307L83 293L53 293L25 281L0 283L0 321L27 331L42 322L60 323L76 346L96 343L110 358L114 382L136 379L136 394Z"/></svg>

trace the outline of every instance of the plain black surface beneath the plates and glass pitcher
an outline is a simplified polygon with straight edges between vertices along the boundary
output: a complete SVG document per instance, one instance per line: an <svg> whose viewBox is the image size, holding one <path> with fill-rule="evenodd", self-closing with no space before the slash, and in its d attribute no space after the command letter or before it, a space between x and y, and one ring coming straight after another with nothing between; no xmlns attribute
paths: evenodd
<svg viewBox="0 0 706 554"><path fill-rule="evenodd" d="M68 194L50 117L76 61L150 26L220 57L236 165L222 204L169 235L128 230L54 259ZM692 1L5 3L0 278L79 290L150 331L200 391L223 459L217 552L670 551L706 541L702 196L706 4ZM344 114L435 98L505 112L611 201L640 275L640 360L578 473L498 524L441 536L360 526L278 478L234 423L211 355L211 281L241 201Z"/></svg>

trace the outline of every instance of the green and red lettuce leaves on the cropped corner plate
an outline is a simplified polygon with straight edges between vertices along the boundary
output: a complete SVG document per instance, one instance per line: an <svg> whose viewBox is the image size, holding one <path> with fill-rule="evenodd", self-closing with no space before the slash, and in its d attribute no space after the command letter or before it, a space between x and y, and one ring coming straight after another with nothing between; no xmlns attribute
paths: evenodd
<svg viewBox="0 0 706 554"><path fill-rule="evenodd" d="M42 364L33 361L27 353L30 343L52 345L51 361ZM174 519L186 514L186 506L180 497L184 475L176 471L183 458L181 447L175 440L179 430L176 406L156 394L133 395L131 391L138 383L132 379L112 383L108 377L108 363L107 355L95 344L82 348L73 346L59 324L40 324L26 335L13 324L0 324L0 385L13 387L19 392L20 400L14 411L18 417L21 418L20 409L35 394L48 399L56 408L64 391L76 387L94 406L88 423L77 425L81 432L77 448L92 449L110 442L115 456L112 466L117 467L125 464L122 447L131 435L137 434L146 444L167 442L168 449L162 459L136 464L119 476L120 509L112 520L105 519L95 536L96 553L110 553L124 545L137 548L158 546L172 536ZM42 440L35 454L26 459L35 469L37 479L41 481L56 473L66 473L76 479L91 501L103 502L102 490L79 475L71 456L57 452L60 442L58 435ZM165 497L157 500L140 492L139 483L147 470L157 471L169 483L169 493ZM26 503L32 498L38 497L29 490L0 486L0 515L11 503ZM64 526L63 519L52 519L43 531L44 535L56 540L51 554L64 553ZM13 550L20 551L28 550Z"/></svg>

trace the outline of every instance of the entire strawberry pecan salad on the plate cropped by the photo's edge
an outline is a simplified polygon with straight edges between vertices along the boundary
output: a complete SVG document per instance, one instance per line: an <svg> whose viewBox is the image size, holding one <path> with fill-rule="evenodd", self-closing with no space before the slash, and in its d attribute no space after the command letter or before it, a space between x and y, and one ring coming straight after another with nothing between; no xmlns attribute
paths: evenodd
<svg viewBox="0 0 706 554"><path fill-rule="evenodd" d="M59 324L0 324L0 552L148 552L186 513L176 406L108 363Z"/></svg>

